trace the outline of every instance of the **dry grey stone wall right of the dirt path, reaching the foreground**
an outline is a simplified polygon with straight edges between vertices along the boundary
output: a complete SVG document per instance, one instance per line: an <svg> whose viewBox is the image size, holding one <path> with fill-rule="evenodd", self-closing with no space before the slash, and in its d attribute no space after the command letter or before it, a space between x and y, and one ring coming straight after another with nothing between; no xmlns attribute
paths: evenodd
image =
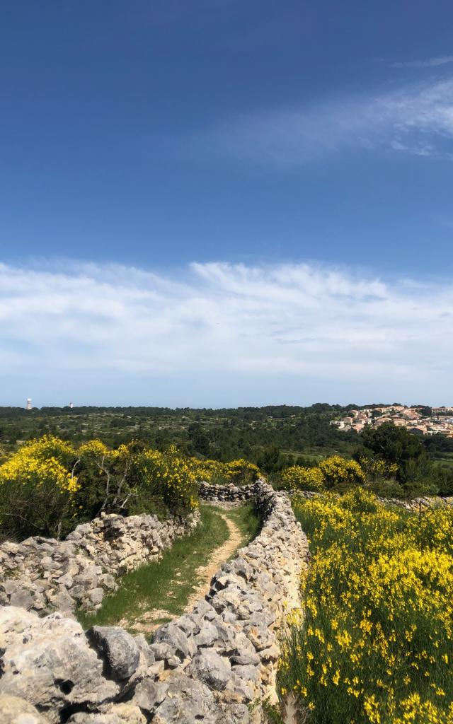
<svg viewBox="0 0 453 724"><path fill-rule="evenodd" d="M151 644L115 627L84 634L57 613L1 609L0 702L25 699L50 724L249 722L249 703L273 693L278 634L299 604L308 554L288 496L258 481L254 500L259 536Z"/></svg>

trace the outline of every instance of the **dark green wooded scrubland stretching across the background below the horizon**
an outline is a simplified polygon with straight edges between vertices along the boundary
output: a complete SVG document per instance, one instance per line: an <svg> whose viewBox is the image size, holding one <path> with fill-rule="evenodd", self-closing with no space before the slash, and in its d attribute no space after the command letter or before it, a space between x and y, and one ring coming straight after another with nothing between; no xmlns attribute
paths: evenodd
<svg viewBox="0 0 453 724"><path fill-rule="evenodd" d="M453 438L441 434L417 438L392 424L362 434L331 425L351 408L357 405L222 410L0 408L0 463L23 442L43 435L58 437L75 448L98 439L109 450L138 443L163 452L174 445L180 455L199 460L229 463L245 459L277 482L282 471L292 466L312 468L335 456L360 462L361 457L371 455L398 465L396 481L389 477L384 494L453 493ZM308 482L313 484L313 479Z"/></svg>

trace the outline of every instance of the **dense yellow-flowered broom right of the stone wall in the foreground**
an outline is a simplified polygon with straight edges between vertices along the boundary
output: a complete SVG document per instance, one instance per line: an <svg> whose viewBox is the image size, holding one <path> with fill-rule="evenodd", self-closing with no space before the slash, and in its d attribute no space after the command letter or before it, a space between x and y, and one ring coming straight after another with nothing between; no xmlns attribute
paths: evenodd
<svg viewBox="0 0 453 724"><path fill-rule="evenodd" d="M280 693L312 724L453 724L453 510L388 510L357 489L296 500L314 554Z"/></svg>

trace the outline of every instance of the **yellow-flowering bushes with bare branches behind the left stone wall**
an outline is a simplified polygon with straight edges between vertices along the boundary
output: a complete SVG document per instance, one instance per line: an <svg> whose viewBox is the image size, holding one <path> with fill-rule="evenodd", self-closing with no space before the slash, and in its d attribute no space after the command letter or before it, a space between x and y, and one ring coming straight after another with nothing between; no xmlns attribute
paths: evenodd
<svg viewBox="0 0 453 724"><path fill-rule="evenodd" d="M197 479L193 461L175 447L110 450L90 440L75 449L46 435L0 465L0 532L59 537L103 510L186 515L198 505Z"/></svg>

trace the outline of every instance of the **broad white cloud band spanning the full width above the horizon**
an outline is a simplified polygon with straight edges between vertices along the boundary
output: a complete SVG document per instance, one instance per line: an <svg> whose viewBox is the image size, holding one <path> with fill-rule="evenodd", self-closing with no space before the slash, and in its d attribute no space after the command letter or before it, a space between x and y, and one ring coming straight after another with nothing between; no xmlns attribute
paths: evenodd
<svg viewBox="0 0 453 724"><path fill-rule="evenodd" d="M449 384L453 288L313 264L0 265L0 375ZM420 388L420 385L422 387ZM221 393L220 393L221 397ZM335 395L334 395L335 397ZM338 399L338 397L337 397ZM225 404L225 400L223 403Z"/></svg>

